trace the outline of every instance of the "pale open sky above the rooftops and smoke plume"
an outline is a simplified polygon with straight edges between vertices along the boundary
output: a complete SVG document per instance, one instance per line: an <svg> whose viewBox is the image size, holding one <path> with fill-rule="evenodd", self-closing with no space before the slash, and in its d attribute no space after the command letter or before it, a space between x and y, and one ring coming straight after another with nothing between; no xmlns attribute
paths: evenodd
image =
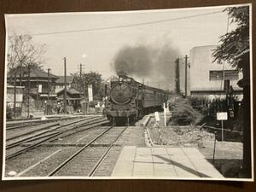
<svg viewBox="0 0 256 192"><path fill-rule="evenodd" d="M228 15L222 10L224 7L6 15L6 26L8 35L31 34L34 42L46 44L44 69L49 67L55 75L63 75L66 56L67 73L79 72L82 63L85 73L97 71L107 79L115 74L111 67L114 55L125 45L160 46L167 42L179 49L181 55L189 55L195 46L218 44L227 29ZM127 26L145 22L150 23ZM102 29L108 27L113 28ZM87 29L91 31L83 31Z"/></svg>

